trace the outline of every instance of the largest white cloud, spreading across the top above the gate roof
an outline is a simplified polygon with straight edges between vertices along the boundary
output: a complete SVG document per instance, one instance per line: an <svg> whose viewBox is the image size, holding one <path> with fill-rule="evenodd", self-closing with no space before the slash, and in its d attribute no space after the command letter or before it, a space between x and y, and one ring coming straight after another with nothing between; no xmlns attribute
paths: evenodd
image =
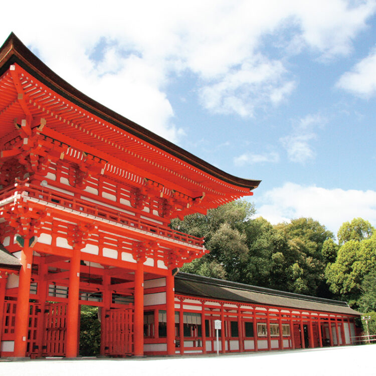
<svg viewBox="0 0 376 376"><path fill-rule="evenodd" d="M310 49L315 57L348 54L375 6L372 0L107 0L105 6L97 0L64 6L20 0L25 22L5 17L0 35L5 40L13 30L85 94L176 141L182 131L173 125L166 95L171 75L196 75L208 110L252 116L281 103L295 87L286 45L293 44L294 53ZM13 14L14 4L2 11ZM286 43L277 60L263 41L281 35ZM111 43L97 64L91 56L103 39Z"/></svg>

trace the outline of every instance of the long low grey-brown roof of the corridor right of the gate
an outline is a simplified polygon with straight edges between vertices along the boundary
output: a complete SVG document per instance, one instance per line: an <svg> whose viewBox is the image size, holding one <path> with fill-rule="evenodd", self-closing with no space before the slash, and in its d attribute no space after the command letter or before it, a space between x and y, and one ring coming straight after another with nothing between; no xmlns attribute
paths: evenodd
<svg viewBox="0 0 376 376"><path fill-rule="evenodd" d="M259 305L351 315L360 314L350 308L346 302L339 300L294 294L181 272L175 276L175 293Z"/></svg>

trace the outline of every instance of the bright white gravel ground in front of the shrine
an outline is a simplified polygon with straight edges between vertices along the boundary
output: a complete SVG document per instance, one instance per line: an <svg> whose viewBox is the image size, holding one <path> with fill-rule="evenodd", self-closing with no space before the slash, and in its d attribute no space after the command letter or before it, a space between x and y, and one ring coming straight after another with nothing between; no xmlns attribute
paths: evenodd
<svg viewBox="0 0 376 376"><path fill-rule="evenodd" d="M376 345L220 356L0 361L0 376L376 376Z"/></svg>

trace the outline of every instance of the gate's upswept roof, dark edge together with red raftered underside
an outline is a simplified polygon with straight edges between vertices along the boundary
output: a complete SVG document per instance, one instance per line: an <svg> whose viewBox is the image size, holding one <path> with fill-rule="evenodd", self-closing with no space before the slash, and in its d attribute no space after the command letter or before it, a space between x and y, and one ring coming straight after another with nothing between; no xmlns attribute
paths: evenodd
<svg viewBox="0 0 376 376"><path fill-rule="evenodd" d="M21 67L18 91L10 84L7 70L11 64ZM227 174L93 101L52 72L14 34L0 48L0 74L4 73L0 91L7 103L0 103L0 117L5 123L25 106L17 97L23 90L27 99L22 100L33 116L47 118L48 129L64 132L85 146L136 165L144 172L143 177L156 174L170 185L181 187L180 192L194 195L207 191L219 199L236 199L249 195L260 183Z"/></svg>

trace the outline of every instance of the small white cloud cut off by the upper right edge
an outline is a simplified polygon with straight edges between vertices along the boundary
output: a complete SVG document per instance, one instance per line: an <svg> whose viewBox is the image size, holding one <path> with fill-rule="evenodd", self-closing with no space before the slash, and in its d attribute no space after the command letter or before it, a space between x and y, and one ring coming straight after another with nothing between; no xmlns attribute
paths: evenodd
<svg viewBox="0 0 376 376"><path fill-rule="evenodd" d="M359 95L371 97L376 94L376 49L359 63L350 72L344 73L336 86Z"/></svg>

